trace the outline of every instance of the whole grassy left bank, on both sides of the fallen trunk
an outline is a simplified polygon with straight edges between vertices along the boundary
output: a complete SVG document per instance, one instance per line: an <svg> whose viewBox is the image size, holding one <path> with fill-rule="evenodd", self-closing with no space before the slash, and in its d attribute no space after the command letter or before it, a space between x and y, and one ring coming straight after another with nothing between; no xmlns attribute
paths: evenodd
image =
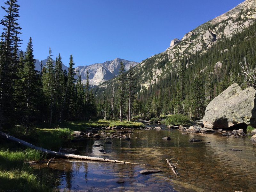
<svg viewBox="0 0 256 192"><path fill-rule="evenodd" d="M142 123L112 120L95 120L87 122L66 122L54 125L53 128L48 124L41 124L36 127L15 126L4 132L32 143L33 145L59 151L60 147L65 146L65 142L72 139L73 131L83 131L101 127L115 127L121 125L124 128L137 128L144 126ZM0 139L0 191L52 191L56 185L56 178L50 174L48 167L46 174L41 170L32 168L28 161L39 161L46 157L45 154L30 148Z"/></svg>

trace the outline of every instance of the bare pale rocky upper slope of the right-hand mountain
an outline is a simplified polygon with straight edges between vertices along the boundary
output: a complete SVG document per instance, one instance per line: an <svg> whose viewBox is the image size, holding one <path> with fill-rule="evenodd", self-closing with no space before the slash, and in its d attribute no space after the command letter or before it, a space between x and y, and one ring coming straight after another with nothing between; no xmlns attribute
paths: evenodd
<svg viewBox="0 0 256 192"><path fill-rule="evenodd" d="M255 20L256 0L246 0L232 10L189 31L182 39L173 39L165 52L143 60L136 66L134 71L137 75L145 74L140 78L142 88L148 88L149 85L157 83L159 77L165 78L172 70L177 70L179 74L178 69L182 58L207 52L221 37L231 38L255 23ZM224 51L228 50L220 50L220 52ZM193 62L188 62L186 68L190 65L193 65ZM150 78L145 76L150 76Z"/></svg>

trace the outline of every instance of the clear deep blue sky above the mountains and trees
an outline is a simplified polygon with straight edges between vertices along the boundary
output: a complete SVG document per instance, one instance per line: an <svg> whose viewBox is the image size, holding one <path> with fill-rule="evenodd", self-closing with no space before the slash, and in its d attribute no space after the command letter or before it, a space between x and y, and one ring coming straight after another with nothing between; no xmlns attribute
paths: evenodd
<svg viewBox="0 0 256 192"><path fill-rule="evenodd" d="M3 6L5 0L0 5ZM243 0L18 0L21 49L31 36L34 57L60 53L68 65L115 58L140 62L174 38L229 11ZM5 15L0 10L0 17ZM2 27L0 29L2 32Z"/></svg>

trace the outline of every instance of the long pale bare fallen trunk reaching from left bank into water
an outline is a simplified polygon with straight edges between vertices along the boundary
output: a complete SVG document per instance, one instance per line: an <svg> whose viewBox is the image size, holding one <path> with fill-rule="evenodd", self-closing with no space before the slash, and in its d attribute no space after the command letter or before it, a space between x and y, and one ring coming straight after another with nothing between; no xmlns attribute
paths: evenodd
<svg viewBox="0 0 256 192"><path fill-rule="evenodd" d="M92 161L103 161L103 162L112 162L112 163L122 163L122 164L137 164L137 165L146 165L146 164L139 164L139 163L131 163L131 162L126 162L126 161L118 161L118 160L112 160L112 159L104 159L104 158L99 158L99 157L90 157L90 156L81 156L81 155L74 155L74 154L68 154L68 153L60 153L48 149L44 149L41 147L37 147L35 145L32 145L26 141L17 139L15 137L12 137L11 135L8 135L4 132L0 131L0 135L8 140L12 140L15 142L20 143L21 145L42 151L44 153L53 155L53 156L59 156L59 157L64 157L64 158L73 158L73 159L81 159L81 160L92 160Z"/></svg>

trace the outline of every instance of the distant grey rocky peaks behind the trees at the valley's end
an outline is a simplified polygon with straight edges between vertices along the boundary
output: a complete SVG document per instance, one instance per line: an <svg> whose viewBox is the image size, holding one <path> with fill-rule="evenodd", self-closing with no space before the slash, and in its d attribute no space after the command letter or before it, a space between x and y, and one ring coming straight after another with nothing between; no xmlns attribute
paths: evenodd
<svg viewBox="0 0 256 192"><path fill-rule="evenodd" d="M103 83L109 79L112 79L114 76L116 76L120 69L120 62L123 62L125 70L129 70L130 67L136 66L138 63L135 61L128 61L124 59L116 58L111 61L106 61L104 63L95 63L92 65L86 65L86 66L78 66L75 68L76 73L81 74L82 83L85 84L86 82L86 75L87 70L89 73L89 83L91 85L98 85L100 83ZM40 62L39 60L36 60L35 66L36 70L40 71ZM47 59L42 60L43 66L46 65ZM55 61L53 60L53 64L55 65ZM68 67L63 65L62 69L66 69L68 71ZM75 77L77 78L77 77Z"/></svg>

